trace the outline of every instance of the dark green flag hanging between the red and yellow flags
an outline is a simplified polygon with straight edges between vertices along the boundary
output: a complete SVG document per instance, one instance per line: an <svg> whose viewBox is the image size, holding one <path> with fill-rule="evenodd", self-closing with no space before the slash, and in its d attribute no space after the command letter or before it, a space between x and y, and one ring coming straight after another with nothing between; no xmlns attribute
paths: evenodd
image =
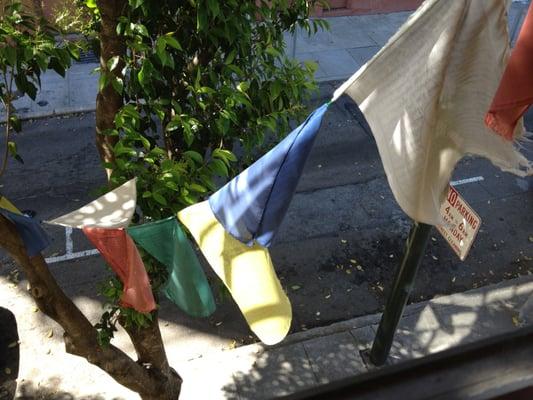
<svg viewBox="0 0 533 400"><path fill-rule="evenodd" d="M207 317L215 311L207 278L176 217L132 226L127 231L167 268L163 292L172 302L194 317Z"/></svg>

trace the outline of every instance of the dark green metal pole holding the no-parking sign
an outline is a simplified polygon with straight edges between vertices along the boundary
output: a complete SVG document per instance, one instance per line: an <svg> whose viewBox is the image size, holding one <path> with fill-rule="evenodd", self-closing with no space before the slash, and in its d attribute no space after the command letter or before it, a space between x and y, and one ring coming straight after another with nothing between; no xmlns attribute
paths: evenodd
<svg viewBox="0 0 533 400"><path fill-rule="evenodd" d="M383 365L387 361L394 333L414 285L416 272L424 256L430 232L431 225L420 222L414 222L411 227L402 263L396 270L392 290L370 351L370 361L374 365Z"/></svg>

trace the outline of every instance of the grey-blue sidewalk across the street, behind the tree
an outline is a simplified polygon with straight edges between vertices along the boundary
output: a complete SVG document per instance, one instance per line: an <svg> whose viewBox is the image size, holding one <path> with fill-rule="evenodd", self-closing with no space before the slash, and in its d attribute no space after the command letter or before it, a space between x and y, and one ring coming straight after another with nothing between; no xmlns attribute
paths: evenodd
<svg viewBox="0 0 533 400"><path fill-rule="evenodd" d="M527 12L528 2L514 1L509 12L509 33L514 43ZM326 18L329 31L308 36L302 30L285 35L287 54L299 61L318 64L319 82L341 80L364 65L396 32L410 12ZM95 109L98 74L95 63L75 63L63 79L54 72L42 76L35 102L27 97L15 101L22 118L38 118ZM3 113L0 112L0 119Z"/></svg>

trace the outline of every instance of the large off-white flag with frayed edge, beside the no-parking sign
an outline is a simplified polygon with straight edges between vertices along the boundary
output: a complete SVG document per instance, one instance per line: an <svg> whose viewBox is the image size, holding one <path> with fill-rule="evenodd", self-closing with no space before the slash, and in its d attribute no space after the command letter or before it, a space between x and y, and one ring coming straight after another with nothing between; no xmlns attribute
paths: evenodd
<svg viewBox="0 0 533 400"><path fill-rule="evenodd" d="M456 163L488 158L524 176L531 163L494 135L484 116L509 51L506 2L427 0L339 87L364 114L389 185L415 221L442 223Z"/></svg>

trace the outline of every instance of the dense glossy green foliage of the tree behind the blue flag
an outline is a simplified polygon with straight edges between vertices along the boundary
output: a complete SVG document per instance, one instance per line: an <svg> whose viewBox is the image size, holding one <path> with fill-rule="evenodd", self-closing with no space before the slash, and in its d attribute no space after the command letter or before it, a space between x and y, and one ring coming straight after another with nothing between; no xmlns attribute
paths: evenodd
<svg viewBox="0 0 533 400"><path fill-rule="evenodd" d="M236 172L233 150L265 145L305 114L316 66L284 54L284 32L318 1L130 0L117 33L127 51L107 60L100 89L125 105L113 114L113 181L139 178L147 217L174 215ZM117 52L119 53L119 52ZM104 110L109 113L109 110ZM116 114L116 115L115 115Z"/></svg>

